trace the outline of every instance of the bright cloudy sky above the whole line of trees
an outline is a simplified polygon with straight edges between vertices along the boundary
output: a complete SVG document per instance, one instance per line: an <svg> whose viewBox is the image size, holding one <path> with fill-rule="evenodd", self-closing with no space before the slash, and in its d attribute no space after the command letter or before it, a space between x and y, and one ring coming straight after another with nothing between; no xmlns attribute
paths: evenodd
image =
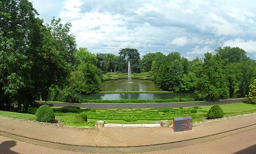
<svg viewBox="0 0 256 154"><path fill-rule="evenodd" d="M241 47L256 59L256 1L30 0L45 23L72 24L78 47L141 55L178 51L189 60L218 46Z"/></svg>

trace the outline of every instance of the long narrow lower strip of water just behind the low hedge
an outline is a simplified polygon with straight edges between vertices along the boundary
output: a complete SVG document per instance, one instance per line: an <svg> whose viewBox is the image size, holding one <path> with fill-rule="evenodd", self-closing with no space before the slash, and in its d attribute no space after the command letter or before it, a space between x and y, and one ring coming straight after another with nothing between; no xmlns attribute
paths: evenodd
<svg viewBox="0 0 256 154"><path fill-rule="evenodd" d="M97 93L82 95L87 100L153 100L174 98L196 98L198 93Z"/></svg>

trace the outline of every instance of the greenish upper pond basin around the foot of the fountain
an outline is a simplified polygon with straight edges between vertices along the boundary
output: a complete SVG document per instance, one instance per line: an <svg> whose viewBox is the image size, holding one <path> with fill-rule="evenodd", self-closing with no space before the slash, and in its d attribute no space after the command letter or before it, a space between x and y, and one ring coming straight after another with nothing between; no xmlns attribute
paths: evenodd
<svg viewBox="0 0 256 154"><path fill-rule="evenodd" d="M101 91L159 91L156 84L150 80L132 79L128 83L127 79L110 80L102 83Z"/></svg>

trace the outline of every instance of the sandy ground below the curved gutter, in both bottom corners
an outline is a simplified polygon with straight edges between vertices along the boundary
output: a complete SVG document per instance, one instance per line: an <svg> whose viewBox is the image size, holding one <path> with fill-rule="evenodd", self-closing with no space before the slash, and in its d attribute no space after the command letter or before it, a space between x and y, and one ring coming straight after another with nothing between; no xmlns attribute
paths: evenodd
<svg viewBox="0 0 256 154"><path fill-rule="evenodd" d="M143 153L255 153L255 129L213 141ZM53 149L0 136L0 153L83 153Z"/></svg>

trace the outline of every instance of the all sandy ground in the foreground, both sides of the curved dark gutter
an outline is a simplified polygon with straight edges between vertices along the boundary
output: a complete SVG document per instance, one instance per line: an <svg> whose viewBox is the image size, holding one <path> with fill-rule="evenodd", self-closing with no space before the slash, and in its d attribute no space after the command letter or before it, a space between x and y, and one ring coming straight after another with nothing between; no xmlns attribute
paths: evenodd
<svg viewBox="0 0 256 154"><path fill-rule="evenodd" d="M70 128L0 117L0 130L56 143L93 146L131 146L182 141L256 123L256 113L200 124L193 130L174 132L171 128ZM150 153L256 153L256 126L231 136L189 146ZM0 136L0 153L77 153L58 150ZM3 151L3 152L2 152ZM184 152L185 151L185 152ZM255 152L254 152L255 151ZM79 153L79 152L78 152Z"/></svg>

